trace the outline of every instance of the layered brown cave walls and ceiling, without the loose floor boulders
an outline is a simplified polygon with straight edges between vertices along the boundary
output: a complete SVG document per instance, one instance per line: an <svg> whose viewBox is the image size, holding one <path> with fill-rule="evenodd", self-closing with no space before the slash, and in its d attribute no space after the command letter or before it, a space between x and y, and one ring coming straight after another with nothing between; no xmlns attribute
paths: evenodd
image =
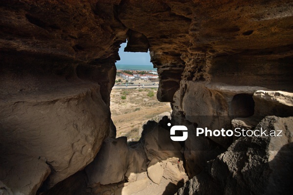
<svg viewBox="0 0 293 195"><path fill-rule="evenodd" d="M115 137L109 94L126 39L126 51L149 49L160 78L157 98L171 102L173 124L254 127L265 116L293 116L292 6L291 0L0 1L0 184L27 195L66 183L93 161L106 137ZM188 176L233 141L190 135Z"/></svg>

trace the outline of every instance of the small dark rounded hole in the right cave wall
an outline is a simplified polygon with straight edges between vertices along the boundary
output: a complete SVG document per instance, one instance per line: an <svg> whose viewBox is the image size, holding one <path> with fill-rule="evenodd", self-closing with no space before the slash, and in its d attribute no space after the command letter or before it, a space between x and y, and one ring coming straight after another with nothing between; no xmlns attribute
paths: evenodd
<svg viewBox="0 0 293 195"><path fill-rule="evenodd" d="M251 94L236 94L231 101L233 117L250 117L254 114L254 100Z"/></svg>

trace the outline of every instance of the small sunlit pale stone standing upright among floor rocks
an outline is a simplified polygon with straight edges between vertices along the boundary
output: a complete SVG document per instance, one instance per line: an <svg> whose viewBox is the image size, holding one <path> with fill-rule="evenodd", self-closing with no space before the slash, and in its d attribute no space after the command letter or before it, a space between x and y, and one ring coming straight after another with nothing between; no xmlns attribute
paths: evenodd
<svg viewBox="0 0 293 195"><path fill-rule="evenodd" d="M160 162L158 159L153 158L147 167L147 176L152 182L160 184L164 173L166 163Z"/></svg>

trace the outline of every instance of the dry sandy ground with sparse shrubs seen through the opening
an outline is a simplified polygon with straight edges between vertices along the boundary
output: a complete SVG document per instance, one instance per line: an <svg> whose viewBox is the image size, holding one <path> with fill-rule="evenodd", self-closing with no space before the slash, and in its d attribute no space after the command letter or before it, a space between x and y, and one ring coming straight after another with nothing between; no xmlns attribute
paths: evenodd
<svg viewBox="0 0 293 195"><path fill-rule="evenodd" d="M110 109L117 137L127 136L128 140L137 140L147 120L155 120L158 115L171 112L170 104L159 102L156 94L156 88L112 90ZM123 96L126 99L122 99Z"/></svg>

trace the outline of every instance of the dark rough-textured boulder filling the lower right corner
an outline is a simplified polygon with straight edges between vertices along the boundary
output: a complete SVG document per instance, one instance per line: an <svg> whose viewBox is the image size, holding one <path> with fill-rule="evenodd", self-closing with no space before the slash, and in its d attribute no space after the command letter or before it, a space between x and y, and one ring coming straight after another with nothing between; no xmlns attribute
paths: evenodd
<svg viewBox="0 0 293 195"><path fill-rule="evenodd" d="M256 129L283 130L283 137L237 139L227 152L209 161L206 170L189 180L176 195L290 194L292 122L293 117L265 117Z"/></svg>

